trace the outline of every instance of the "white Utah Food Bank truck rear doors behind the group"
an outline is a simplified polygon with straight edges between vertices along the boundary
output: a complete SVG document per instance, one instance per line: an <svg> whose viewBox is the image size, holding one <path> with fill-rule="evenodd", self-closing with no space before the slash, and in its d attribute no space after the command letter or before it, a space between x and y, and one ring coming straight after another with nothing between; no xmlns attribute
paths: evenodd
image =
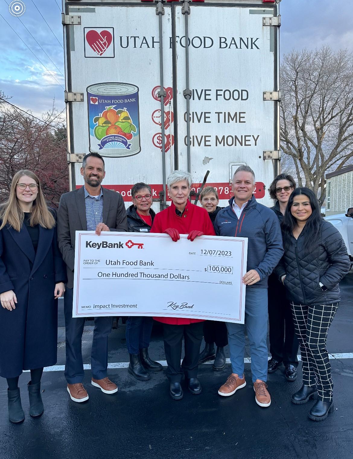
<svg viewBox="0 0 353 459"><path fill-rule="evenodd" d="M273 205L279 1L63 1L71 189L96 151L104 186L130 202L132 185L146 182L156 211L174 169L190 171L194 195L207 179L225 206L240 164L254 169L259 202Z"/></svg>

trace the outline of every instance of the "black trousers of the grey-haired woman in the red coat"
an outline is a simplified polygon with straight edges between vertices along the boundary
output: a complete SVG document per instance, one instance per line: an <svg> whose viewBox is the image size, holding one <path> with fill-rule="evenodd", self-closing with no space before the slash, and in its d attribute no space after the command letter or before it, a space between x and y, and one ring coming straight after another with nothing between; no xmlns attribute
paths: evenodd
<svg viewBox="0 0 353 459"><path fill-rule="evenodd" d="M182 337L184 336L185 356L182 359ZM189 325L163 324L165 358L168 364L166 375L170 382L185 378L196 378L200 346L203 337L203 322Z"/></svg>

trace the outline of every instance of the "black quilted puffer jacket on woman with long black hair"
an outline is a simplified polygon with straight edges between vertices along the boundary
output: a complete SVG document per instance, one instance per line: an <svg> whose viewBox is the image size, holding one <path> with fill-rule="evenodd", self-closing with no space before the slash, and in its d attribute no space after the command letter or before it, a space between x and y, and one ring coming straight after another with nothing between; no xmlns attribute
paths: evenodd
<svg viewBox="0 0 353 459"><path fill-rule="evenodd" d="M294 304L331 304L340 301L339 282L348 273L351 263L347 248L339 231L322 220L317 244L313 241L310 251L304 250L304 231L298 240L291 237L285 248L276 274L286 274L284 285L287 297ZM319 283L327 287L323 291Z"/></svg>

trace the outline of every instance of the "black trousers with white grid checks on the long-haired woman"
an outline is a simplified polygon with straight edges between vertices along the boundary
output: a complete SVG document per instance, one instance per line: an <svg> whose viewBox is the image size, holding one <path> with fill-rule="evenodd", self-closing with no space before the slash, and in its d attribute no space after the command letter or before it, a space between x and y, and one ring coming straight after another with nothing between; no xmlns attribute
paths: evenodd
<svg viewBox="0 0 353 459"><path fill-rule="evenodd" d="M326 349L327 332L338 303L320 305L291 304L295 333L302 357L303 385L315 386L318 398L332 399L331 365Z"/></svg>

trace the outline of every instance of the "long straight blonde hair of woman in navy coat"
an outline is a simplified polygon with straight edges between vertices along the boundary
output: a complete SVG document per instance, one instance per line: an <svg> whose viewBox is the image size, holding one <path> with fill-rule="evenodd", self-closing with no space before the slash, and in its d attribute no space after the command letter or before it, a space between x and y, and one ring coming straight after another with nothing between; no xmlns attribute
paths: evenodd
<svg viewBox="0 0 353 459"><path fill-rule="evenodd" d="M27 175L35 180L38 185L38 194L33 201L33 207L30 218L30 225L35 226L39 224L43 228L51 229L55 226L55 219L48 209L47 203L40 187L39 179L36 174L26 169L18 171L12 179L9 199L0 206L0 219L2 220L0 229L4 228L6 224L12 226L16 231L20 231L23 224L24 213L18 204L16 196L16 187L18 180L22 175Z"/></svg>

